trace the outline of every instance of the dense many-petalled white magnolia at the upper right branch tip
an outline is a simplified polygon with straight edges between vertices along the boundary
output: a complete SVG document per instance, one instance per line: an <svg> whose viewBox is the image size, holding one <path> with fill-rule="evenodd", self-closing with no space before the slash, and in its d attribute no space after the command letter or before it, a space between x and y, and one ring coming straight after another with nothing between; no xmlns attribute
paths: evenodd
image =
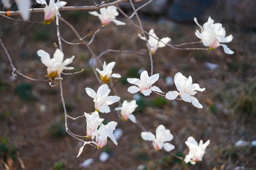
<svg viewBox="0 0 256 170"><path fill-rule="evenodd" d="M196 30L196 36L202 40L204 46L209 46L210 49L216 49L219 46L223 46L225 53L234 53L234 51L231 51L225 44L220 44L221 42L230 42L233 39L232 34L225 37L226 31L225 28L222 27L222 24L214 24L214 20L211 17L209 17L208 21L203 24L203 27L198 24L196 18L194 18L194 22L201 28L201 33Z"/></svg>

